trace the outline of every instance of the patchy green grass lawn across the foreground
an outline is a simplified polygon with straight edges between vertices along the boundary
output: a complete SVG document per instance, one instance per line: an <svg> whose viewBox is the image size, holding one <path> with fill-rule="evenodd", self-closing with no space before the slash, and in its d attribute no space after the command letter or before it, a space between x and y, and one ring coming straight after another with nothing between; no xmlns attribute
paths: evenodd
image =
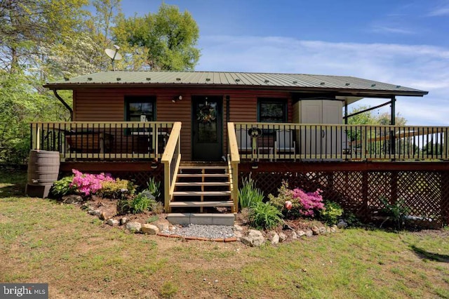
<svg viewBox="0 0 449 299"><path fill-rule="evenodd" d="M48 283L50 298L449 298L449 230L260 248L127 234L0 171L0 282Z"/></svg>

